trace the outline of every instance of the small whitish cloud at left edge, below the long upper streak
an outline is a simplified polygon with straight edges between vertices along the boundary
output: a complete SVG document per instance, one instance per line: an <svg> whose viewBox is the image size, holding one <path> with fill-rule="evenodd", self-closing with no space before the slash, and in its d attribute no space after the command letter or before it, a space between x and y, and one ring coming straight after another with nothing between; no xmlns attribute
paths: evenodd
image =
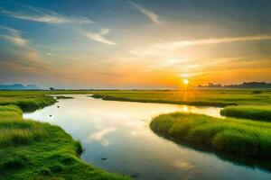
<svg viewBox="0 0 271 180"><path fill-rule="evenodd" d="M1 34L0 38L7 40L16 46L27 46L28 40L23 39L20 31L5 26L0 26L0 29L7 32L7 34Z"/></svg>

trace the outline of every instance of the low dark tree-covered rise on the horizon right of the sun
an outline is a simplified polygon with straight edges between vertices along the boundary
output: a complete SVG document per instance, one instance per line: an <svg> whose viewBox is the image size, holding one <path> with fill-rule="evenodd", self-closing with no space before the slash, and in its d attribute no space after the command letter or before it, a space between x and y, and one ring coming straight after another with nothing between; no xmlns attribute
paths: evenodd
<svg viewBox="0 0 271 180"><path fill-rule="evenodd" d="M239 85L216 85L209 83L208 85L198 85L198 88L271 88L271 83L245 82Z"/></svg>

